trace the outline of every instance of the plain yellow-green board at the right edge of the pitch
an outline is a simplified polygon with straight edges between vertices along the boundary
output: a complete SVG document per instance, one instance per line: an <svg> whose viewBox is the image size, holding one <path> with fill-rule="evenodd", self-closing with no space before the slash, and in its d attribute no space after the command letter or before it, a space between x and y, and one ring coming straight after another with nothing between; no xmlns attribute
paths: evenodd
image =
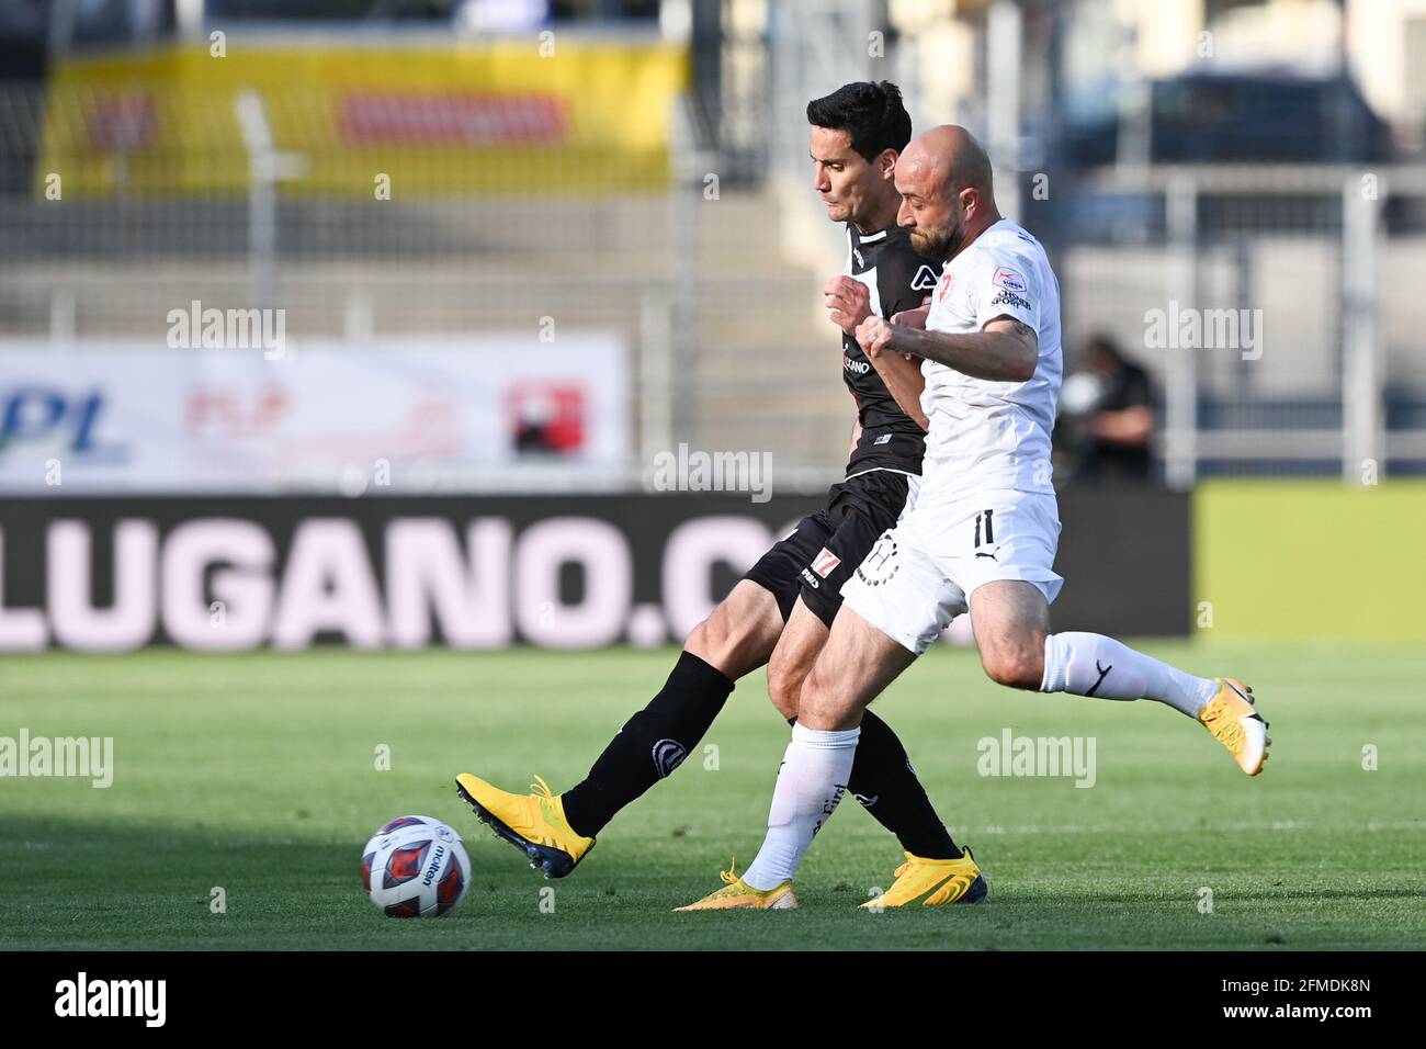
<svg viewBox="0 0 1426 1049"><path fill-rule="evenodd" d="M1426 482L1202 484L1194 492L1198 635L1426 642L1423 539Z"/></svg>

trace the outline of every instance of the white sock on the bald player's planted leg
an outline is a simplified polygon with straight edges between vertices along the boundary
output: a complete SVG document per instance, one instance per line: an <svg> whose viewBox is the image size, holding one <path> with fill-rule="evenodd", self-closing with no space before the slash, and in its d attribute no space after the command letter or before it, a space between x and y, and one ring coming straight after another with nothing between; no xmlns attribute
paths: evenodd
<svg viewBox="0 0 1426 1049"><path fill-rule="evenodd" d="M771 889L797 873L813 835L847 789L860 736L860 726L823 732L793 725L793 741L777 771L773 806L767 812L767 836L743 872L744 882L754 889Z"/></svg>

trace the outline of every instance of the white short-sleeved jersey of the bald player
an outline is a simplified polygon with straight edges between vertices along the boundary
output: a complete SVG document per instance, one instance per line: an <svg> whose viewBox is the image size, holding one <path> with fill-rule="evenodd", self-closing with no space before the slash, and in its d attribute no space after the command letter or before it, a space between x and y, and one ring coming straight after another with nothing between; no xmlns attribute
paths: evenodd
<svg viewBox="0 0 1426 1049"><path fill-rule="evenodd" d="M1050 434L1064 358L1060 281L1040 241L1001 218L945 264L927 331L974 333L1014 317L1040 337L1028 382L991 382L923 361L921 411L930 420L920 502L957 502L988 490L1052 492Z"/></svg>

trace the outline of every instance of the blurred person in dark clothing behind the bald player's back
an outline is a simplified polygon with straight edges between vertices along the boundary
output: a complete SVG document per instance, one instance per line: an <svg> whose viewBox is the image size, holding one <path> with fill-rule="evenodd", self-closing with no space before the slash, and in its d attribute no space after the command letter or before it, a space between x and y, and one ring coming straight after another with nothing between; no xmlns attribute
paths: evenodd
<svg viewBox="0 0 1426 1049"><path fill-rule="evenodd" d="M1112 338L1089 338L1060 407L1055 444L1070 458L1070 484L1154 480L1154 384Z"/></svg>

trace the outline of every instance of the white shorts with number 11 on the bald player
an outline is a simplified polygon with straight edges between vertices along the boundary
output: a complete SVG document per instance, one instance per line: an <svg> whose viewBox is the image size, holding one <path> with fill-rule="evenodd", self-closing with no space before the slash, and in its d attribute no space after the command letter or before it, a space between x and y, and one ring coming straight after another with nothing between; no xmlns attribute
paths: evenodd
<svg viewBox="0 0 1426 1049"><path fill-rule="evenodd" d="M918 502L841 585L843 604L917 655L970 608L977 588L1032 582L1054 601L1060 510L1052 492L988 491Z"/></svg>

